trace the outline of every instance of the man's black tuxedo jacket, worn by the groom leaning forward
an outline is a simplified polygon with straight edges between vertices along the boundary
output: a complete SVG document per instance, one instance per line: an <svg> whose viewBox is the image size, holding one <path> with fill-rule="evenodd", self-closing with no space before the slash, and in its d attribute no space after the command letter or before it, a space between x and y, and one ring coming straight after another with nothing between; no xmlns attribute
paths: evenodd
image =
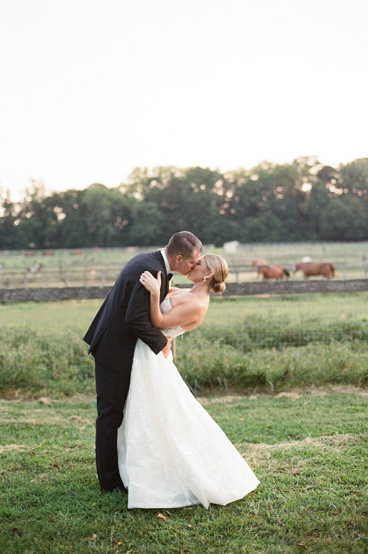
<svg viewBox="0 0 368 554"><path fill-rule="evenodd" d="M160 302L163 301L169 279L162 254L138 254L124 266L83 338L95 361L114 372L130 374L138 338L155 354L167 344L167 338L149 321L150 294L139 281L147 270L154 277L161 271Z"/></svg>

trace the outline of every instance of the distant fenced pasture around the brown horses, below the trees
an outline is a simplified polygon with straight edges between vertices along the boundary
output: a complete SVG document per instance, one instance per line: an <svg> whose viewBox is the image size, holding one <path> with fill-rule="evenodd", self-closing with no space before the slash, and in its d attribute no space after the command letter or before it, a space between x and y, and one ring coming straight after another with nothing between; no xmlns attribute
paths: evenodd
<svg viewBox="0 0 368 554"><path fill-rule="evenodd" d="M130 258L155 248L3 251L0 252L0 287L113 284ZM260 279L257 268L251 266L255 258L283 265L291 273L290 279L303 279L300 271L293 274L293 268L305 256L313 261L334 263L336 279L359 279L368 275L367 242L240 244L235 253L205 245L204 252L223 255L231 270L229 282ZM42 268L37 271L40 264ZM174 282L181 284L187 281L183 276L175 275Z"/></svg>

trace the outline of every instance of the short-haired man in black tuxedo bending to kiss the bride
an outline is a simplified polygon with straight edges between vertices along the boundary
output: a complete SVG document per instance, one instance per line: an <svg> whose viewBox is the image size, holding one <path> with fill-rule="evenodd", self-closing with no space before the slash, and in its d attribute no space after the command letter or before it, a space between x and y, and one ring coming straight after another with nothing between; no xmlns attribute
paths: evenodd
<svg viewBox="0 0 368 554"><path fill-rule="evenodd" d="M125 264L83 340L95 363L97 391L96 465L102 491L124 490L119 475L117 434L123 421L135 343L140 338L155 354L170 351L167 339L149 320L150 294L140 284L143 271L161 271L160 302L168 294L170 271L187 275L203 246L193 233L175 233L164 250L138 254Z"/></svg>

